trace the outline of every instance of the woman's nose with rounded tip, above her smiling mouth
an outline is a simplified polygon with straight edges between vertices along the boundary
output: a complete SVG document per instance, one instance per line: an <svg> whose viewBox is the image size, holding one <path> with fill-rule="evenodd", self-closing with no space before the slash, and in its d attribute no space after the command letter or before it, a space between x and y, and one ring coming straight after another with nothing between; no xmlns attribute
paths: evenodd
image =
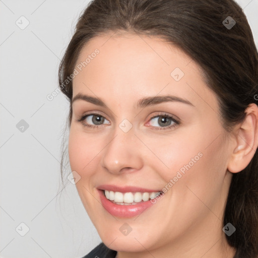
<svg viewBox="0 0 258 258"><path fill-rule="evenodd" d="M101 166L113 174L133 172L142 168L141 142L132 129L124 133L117 126L112 140L103 150Z"/></svg>

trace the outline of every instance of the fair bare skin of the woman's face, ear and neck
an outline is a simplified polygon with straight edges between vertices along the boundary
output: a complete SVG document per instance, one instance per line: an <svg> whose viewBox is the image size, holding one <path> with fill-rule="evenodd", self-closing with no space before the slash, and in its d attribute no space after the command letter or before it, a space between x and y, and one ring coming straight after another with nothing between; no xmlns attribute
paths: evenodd
<svg viewBox="0 0 258 258"><path fill-rule="evenodd" d="M179 48L159 38L109 33L91 39L77 64L96 48L100 53L73 80L73 97L98 97L108 108L84 100L73 103L69 158L81 176L76 183L80 198L102 241L119 258L233 257L235 250L222 231L224 206L232 173L247 166L258 145L257 106L250 105L245 121L229 135L215 93L198 64ZM176 67L184 73L178 82L170 75ZM141 98L168 94L193 106L163 102L137 107ZM105 118L98 128L83 125L96 124L92 116L77 121L94 112ZM180 124L167 128L174 124L169 120L162 127L151 120L159 112L179 118ZM127 133L119 127L123 119L133 126ZM162 189L200 152L203 156L139 216L113 217L102 207L98 185ZM119 230L125 222L132 228L126 236Z"/></svg>

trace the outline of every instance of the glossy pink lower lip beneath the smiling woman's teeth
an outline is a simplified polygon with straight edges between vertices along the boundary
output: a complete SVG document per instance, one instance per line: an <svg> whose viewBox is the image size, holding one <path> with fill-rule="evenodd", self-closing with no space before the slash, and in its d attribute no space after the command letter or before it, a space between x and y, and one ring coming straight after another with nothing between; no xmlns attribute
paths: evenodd
<svg viewBox="0 0 258 258"><path fill-rule="evenodd" d="M153 205L151 200L146 202L141 202L139 204L135 205L119 205L114 204L108 199L106 199L103 190L99 190L100 195L100 201L103 205L103 207L113 216L116 217L122 217L122 218L131 218L134 216L137 216L141 213L143 213L145 210L147 210L149 207ZM156 202L158 199L156 199Z"/></svg>

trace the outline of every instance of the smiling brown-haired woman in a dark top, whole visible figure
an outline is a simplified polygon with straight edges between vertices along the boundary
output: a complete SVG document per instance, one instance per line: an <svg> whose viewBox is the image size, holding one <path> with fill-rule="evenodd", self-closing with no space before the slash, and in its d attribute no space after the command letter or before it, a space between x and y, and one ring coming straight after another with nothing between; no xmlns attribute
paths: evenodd
<svg viewBox="0 0 258 258"><path fill-rule="evenodd" d="M89 4L59 68L85 257L258 257L257 82L233 0Z"/></svg>

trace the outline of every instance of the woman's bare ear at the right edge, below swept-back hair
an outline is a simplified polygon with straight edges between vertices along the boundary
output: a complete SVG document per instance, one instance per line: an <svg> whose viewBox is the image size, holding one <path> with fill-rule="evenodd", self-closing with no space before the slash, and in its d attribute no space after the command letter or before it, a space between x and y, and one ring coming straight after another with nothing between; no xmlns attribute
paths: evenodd
<svg viewBox="0 0 258 258"><path fill-rule="evenodd" d="M235 133L233 152L228 170L237 173L247 167L258 146L258 107L251 103L245 110L246 117Z"/></svg>

